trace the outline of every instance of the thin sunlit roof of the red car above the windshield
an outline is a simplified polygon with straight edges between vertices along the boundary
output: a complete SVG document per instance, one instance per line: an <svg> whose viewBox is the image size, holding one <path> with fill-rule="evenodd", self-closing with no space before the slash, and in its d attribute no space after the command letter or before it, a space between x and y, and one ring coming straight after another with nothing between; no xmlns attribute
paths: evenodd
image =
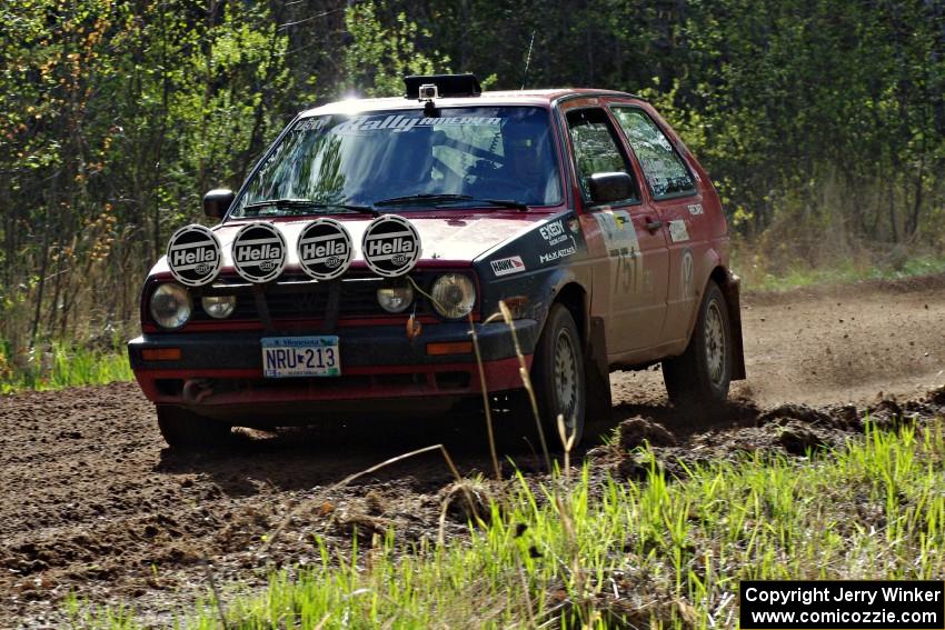
<svg viewBox="0 0 945 630"><path fill-rule="evenodd" d="M595 90L589 88L553 88L546 90L498 90L470 97L446 97L436 99L440 107L489 107L489 106L533 106L548 107L558 99L567 97L624 97L643 100L628 92L615 90ZM380 99L346 99L326 103L301 112L301 117L325 114L354 114L360 111L417 109L418 99L388 97Z"/></svg>

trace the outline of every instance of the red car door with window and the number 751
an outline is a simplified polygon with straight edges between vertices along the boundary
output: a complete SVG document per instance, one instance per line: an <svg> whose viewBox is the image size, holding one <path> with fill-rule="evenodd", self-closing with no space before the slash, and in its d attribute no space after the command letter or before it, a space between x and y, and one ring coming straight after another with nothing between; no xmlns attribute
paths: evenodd
<svg viewBox="0 0 945 630"><path fill-rule="evenodd" d="M581 226L590 256L606 261L595 267L593 310L607 303L607 350L611 362L621 354L656 346L666 316L668 251L658 219L641 204L639 173L626 153L614 122L601 107L565 112L575 174L583 200ZM596 206L588 179L597 172L631 176L631 198Z"/></svg>

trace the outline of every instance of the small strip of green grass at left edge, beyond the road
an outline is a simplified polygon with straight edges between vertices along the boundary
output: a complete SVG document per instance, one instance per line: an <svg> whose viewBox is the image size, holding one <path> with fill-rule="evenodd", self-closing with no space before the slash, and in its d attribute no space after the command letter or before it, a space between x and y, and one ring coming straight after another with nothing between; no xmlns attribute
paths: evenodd
<svg viewBox="0 0 945 630"><path fill-rule="evenodd" d="M123 348L90 350L52 344L11 361L0 348L0 394L129 381L135 377Z"/></svg>

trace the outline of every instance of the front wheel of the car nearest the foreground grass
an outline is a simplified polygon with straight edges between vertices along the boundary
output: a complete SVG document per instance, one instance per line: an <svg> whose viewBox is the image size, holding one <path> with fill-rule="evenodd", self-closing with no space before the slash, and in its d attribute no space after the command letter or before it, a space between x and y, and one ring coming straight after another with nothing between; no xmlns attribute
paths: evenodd
<svg viewBox="0 0 945 630"><path fill-rule="evenodd" d="M564 448L559 413L565 417L567 434L575 438L575 447L584 434L587 381L583 350L571 313L561 304L551 306L531 363L531 384L550 450Z"/></svg>

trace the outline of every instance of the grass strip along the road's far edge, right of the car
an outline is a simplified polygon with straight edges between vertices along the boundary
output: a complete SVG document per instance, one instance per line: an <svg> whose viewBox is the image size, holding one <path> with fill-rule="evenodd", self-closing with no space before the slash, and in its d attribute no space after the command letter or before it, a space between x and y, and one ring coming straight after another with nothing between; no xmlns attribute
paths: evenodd
<svg viewBox="0 0 945 630"><path fill-rule="evenodd" d="M945 258L923 256L909 258L897 266L857 264L849 260L835 266L796 267L784 273L754 272L750 269L739 269L744 274L745 289L749 291L787 291L814 284L848 284L861 280L896 280L916 276L945 273Z"/></svg>

